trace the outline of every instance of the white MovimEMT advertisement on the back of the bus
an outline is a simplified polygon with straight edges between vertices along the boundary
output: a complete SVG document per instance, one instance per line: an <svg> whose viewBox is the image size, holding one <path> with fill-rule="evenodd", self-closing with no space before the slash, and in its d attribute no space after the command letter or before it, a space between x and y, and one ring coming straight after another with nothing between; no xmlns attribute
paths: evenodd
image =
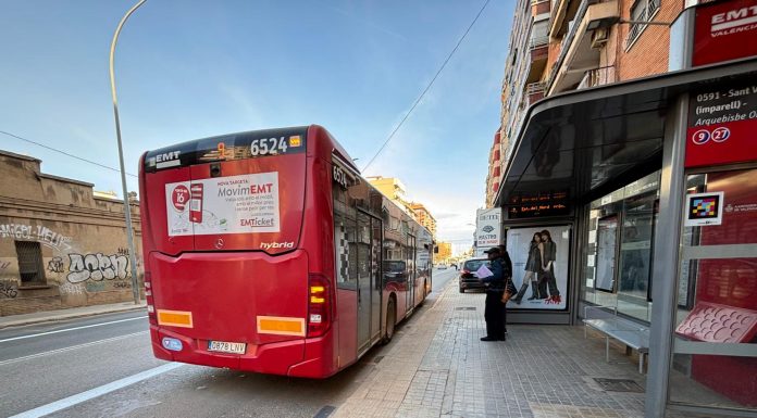
<svg viewBox="0 0 757 418"><path fill-rule="evenodd" d="M169 236L278 232L278 173L165 185Z"/></svg>

